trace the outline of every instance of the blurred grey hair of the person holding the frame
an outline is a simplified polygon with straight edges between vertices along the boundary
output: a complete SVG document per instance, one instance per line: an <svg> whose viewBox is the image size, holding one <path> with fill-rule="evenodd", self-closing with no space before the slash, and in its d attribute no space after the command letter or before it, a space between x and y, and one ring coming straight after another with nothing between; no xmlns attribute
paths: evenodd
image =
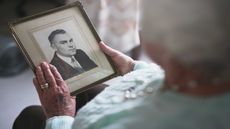
<svg viewBox="0 0 230 129"><path fill-rule="evenodd" d="M230 80L229 0L143 0L143 40L209 78Z"/></svg>

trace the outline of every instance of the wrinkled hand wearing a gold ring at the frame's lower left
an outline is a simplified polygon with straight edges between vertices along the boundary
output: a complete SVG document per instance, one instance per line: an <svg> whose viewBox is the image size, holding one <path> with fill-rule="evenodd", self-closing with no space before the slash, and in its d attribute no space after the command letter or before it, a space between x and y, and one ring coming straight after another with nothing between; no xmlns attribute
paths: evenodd
<svg viewBox="0 0 230 129"><path fill-rule="evenodd" d="M47 118L75 115L75 98L53 65L43 62L37 66L33 83Z"/></svg>

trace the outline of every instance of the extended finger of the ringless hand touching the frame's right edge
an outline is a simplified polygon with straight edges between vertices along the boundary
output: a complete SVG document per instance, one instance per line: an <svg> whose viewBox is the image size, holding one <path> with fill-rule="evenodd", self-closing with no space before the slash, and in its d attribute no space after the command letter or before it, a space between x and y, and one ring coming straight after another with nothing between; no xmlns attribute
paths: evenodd
<svg viewBox="0 0 230 129"><path fill-rule="evenodd" d="M111 47L105 45L104 42L100 42L100 43L99 43L99 46L100 46L100 48L101 48L101 50L102 50L103 52L105 52L107 55L109 55L109 56L111 56L111 57L117 56L117 55L120 53L119 51L117 51L117 50L115 50L115 49L113 49L113 48L111 48Z"/></svg>

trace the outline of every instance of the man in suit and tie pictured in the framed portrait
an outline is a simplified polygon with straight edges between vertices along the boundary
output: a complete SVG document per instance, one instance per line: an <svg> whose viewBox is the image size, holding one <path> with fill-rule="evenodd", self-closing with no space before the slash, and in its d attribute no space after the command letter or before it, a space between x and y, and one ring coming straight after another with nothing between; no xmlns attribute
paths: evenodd
<svg viewBox="0 0 230 129"><path fill-rule="evenodd" d="M55 50L50 64L57 68L64 80L97 67L84 51L76 48L74 39L65 30L52 31L48 39Z"/></svg>

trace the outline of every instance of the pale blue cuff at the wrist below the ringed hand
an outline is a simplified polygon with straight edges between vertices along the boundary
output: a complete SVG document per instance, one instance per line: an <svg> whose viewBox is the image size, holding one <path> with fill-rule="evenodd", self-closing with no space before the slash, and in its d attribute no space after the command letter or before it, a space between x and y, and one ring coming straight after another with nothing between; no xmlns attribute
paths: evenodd
<svg viewBox="0 0 230 129"><path fill-rule="evenodd" d="M45 129L72 129L74 118L70 116L55 116L46 121Z"/></svg>

